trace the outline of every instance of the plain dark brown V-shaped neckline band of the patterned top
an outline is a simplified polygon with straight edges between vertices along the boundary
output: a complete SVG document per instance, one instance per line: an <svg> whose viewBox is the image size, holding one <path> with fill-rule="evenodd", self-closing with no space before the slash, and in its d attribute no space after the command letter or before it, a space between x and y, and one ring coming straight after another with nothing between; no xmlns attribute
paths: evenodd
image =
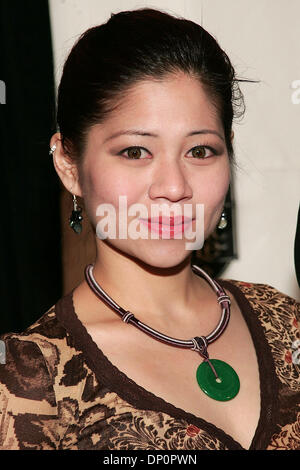
<svg viewBox="0 0 300 470"><path fill-rule="evenodd" d="M105 384L119 397L142 410L153 410L166 413L173 418L184 419L215 436L221 443L232 450L265 449L274 431L276 397L278 396L278 379L271 348L267 342L263 327L257 318L250 302L241 289L229 280L216 279L235 298L250 331L254 344L260 381L260 416L249 448L244 448L232 436L213 423L189 413L163 398L146 390L118 369L94 342L83 323L79 320L73 303L73 288L55 304L58 320L73 337L74 346L80 350L89 368L95 373L99 383ZM276 420L275 420L276 423Z"/></svg>

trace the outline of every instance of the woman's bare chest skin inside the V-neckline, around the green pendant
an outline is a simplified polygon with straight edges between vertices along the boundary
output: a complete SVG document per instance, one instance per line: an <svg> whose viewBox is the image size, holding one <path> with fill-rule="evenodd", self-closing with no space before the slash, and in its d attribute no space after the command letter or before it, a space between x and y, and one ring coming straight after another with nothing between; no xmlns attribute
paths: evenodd
<svg viewBox="0 0 300 470"><path fill-rule="evenodd" d="M202 359L195 351L161 343L125 324L113 312L104 322L85 322L76 313L99 349L127 377L177 408L214 424L248 449L260 415L258 363L242 313L231 293L226 293L231 299L231 319L222 336L208 347L208 353L211 359L230 364L239 376L240 391L227 402L213 400L200 389L196 370ZM75 300L74 307L76 311ZM220 312L215 304L212 307ZM198 323L189 324L185 331L182 327L176 331L175 327L172 332L162 333L190 339L210 332L199 328Z"/></svg>

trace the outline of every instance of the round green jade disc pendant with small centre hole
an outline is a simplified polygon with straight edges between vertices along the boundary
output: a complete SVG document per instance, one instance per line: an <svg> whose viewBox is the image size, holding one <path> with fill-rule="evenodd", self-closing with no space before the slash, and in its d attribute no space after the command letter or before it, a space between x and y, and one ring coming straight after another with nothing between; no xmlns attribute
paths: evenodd
<svg viewBox="0 0 300 470"><path fill-rule="evenodd" d="M227 401L234 398L240 390L240 380L235 370L226 362L210 359L219 379L218 382L208 362L202 362L197 369L196 378L200 388L214 400Z"/></svg>

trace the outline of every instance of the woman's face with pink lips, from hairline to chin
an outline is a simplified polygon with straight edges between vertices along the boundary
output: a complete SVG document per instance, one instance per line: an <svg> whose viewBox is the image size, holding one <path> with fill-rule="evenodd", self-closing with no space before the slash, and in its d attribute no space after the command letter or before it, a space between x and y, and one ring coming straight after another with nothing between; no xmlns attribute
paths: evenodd
<svg viewBox="0 0 300 470"><path fill-rule="evenodd" d="M98 227L100 250L101 244L109 243L152 266L175 266L191 254L186 243L195 237L187 239L181 231L175 238L172 226L164 226L162 235L157 233L158 225L153 224L151 230L138 219L150 218L151 210L169 217L192 215L194 220L186 230L201 230L206 239L219 221L229 182L230 164L218 113L199 81L183 73L162 82L140 82L104 123L89 132L81 191L91 223ZM119 196L124 196L125 209ZM108 220L108 212L100 215L102 204L111 204L116 215L116 234L111 232L106 239L99 236L104 227L99 222ZM130 214L133 204L146 212ZM201 204L203 220L200 209L197 212ZM121 214L127 223L124 238L118 235ZM111 215L109 220L114 223ZM130 226L144 238L132 237Z"/></svg>

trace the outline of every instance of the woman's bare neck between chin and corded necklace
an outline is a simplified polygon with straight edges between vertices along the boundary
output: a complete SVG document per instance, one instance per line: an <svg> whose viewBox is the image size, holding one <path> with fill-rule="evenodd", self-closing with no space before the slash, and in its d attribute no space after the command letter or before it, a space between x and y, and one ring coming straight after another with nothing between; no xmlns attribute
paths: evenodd
<svg viewBox="0 0 300 470"><path fill-rule="evenodd" d="M207 311L208 302L219 314L216 296L207 281L191 268L190 254L172 267L153 267L115 248L101 244L97 250L93 276L117 304L130 310L145 323L157 325L199 319L199 307ZM103 310L103 303L86 284L89 305ZM107 306L111 311L111 308Z"/></svg>

